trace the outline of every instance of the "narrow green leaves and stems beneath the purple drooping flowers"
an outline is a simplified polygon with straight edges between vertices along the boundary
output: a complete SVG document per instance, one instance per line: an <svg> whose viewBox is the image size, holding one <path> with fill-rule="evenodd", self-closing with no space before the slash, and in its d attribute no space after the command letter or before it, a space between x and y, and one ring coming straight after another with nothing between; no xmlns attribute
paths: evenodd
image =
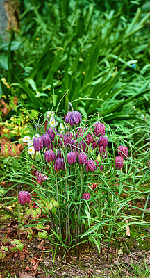
<svg viewBox="0 0 150 278"><path fill-rule="evenodd" d="M94 120L97 119L94 118ZM76 137L76 141L87 144L87 136L92 134L93 125L90 121L83 120L81 128L88 129L83 132L83 135ZM108 244L109 250L111 241L124 234L127 225L136 224L138 227L147 227L148 222L144 219L144 211L149 199L147 187L149 184L149 168L147 168L149 142L143 144L148 132L141 137L140 129L142 130L142 127L138 130L131 130L126 136L118 136L106 124L109 141L107 158L103 158L99 149L92 150L92 143L87 145L88 160L99 159L99 167L93 172L87 172L84 165L67 163L70 145L66 147L63 140L62 145L59 145L58 136L54 149L56 147L56 154L58 150L64 154L64 170L56 171L54 170L55 162L47 163L44 160L46 149L42 149L40 154L35 154L35 156L34 154L22 156L15 161L11 177L10 174L6 174L6 180L15 183L15 186L19 185L19 181L22 180L23 186L30 186L31 190L36 193L35 208L29 206L26 209L26 214L31 217L28 227L36 227L40 238L48 238L50 241L56 238L55 244L60 245L65 251L90 240L97 246L99 252L101 252L102 240ZM56 134L60 132L63 136L67 131L60 131L58 128ZM69 128L69 134L72 134L74 138L76 126ZM139 137L138 147L133 145L135 135ZM140 142L142 142L141 147ZM129 152L128 158L124 159L122 171L115 170L115 156L119 145L126 145ZM81 151L80 147L78 151ZM19 172L17 171L18 163ZM31 166L35 167L34 171L38 170L48 179L39 182ZM93 184L96 184L96 188L92 190ZM90 193L90 200L83 199L85 192ZM144 195L148 196L144 209L136 207L134 200ZM126 213L126 210L130 211L131 208L139 210L141 217ZM126 220L129 222L126 223ZM43 226L49 227L49 222L51 222L51 232L46 232Z"/></svg>

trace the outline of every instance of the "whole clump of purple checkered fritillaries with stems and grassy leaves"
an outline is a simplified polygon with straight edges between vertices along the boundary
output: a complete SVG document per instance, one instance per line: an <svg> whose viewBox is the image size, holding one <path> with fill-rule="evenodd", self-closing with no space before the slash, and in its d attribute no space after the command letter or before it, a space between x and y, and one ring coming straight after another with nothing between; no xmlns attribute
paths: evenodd
<svg viewBox="0 0 150 278"><path fill-rule="evenodd" d="M99 252L103 238L110 245L127 174L128 148L119 146L115 157L105 124L84 122L81 113L69 105L64 130L49 126L49 117L37 126L29 177L35 205L44 210L44 224L51 223L47 238L55 238L66 252L77 249L79 255L81 243L88 240ZM49 203L48 210L42 207L43 199Z"/></svg>

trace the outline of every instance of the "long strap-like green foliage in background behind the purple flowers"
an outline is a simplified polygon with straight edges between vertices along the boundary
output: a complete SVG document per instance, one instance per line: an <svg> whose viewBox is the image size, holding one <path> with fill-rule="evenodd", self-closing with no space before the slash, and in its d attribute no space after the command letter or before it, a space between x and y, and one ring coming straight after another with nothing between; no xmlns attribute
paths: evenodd
<svg viewBox="0 0 150 278"><path fill-rule="evenodd" d="M117 2L115 11L110 1L22 1L22 37L17 42L12 33L8 48L2 44L11 83L8 89L1 82L3 93L25 93L26 101L19 101L42 113L58 104L58 111L66 112L68 101L75 101L106 122L135 123L140 113L133 107L147 111L149 101L149 13L142 10L143 1ZM104 9L110 11L101 13ZM10 60L11 52L17 62Z"/></svg>

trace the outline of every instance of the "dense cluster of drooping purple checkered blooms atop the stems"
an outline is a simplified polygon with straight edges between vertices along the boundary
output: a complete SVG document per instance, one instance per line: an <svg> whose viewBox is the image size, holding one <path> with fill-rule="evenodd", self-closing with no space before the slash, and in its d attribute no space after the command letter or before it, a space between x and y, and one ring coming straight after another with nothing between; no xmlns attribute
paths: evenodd
<svg viewBox="0 0 150 278"><path fill-rule="evenodd" d="M81 113L78 111L69 111L65 117L65 124L77 126L81 123ZM47 133L33 138L33 147L35 152L44 149L44 160L47 163L53 163L54 170L57 172L65 169L67 165L85 165L86 172L94 172L99 169L99 163L90 158L91 150L101 155L101 158L107 157L106 147L108 138L105 137L105 125L96 122L92 129L79 127L69 131L57 131L56 126L50 126ZM103 171L103 168L100 167ZM38 181L44 181L43 174L37 174Z"/></svg>

